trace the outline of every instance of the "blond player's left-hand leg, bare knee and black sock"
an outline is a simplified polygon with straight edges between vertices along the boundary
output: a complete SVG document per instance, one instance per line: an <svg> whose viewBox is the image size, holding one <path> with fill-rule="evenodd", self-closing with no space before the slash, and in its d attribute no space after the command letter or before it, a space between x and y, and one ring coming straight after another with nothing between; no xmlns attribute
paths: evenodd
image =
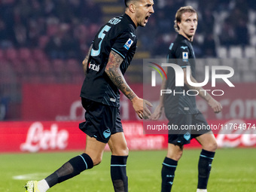
<svg viewBox="0 0 256 192"><path fill-rule="evenodd" d="M183 152L183 145L168 144L168 151L162 166L162 192L169 192L172 190L175 170L178 165L178 160L181 158Z"/></svg>

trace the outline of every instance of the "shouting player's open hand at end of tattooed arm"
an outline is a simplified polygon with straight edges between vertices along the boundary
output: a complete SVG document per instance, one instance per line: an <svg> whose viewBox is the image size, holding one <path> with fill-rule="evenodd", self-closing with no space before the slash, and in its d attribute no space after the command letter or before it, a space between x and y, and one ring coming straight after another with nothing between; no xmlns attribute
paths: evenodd
<svg viewBox="0 0 256 192"><path fill-rule="evenodd" d="M149 111L148 106L152 107L151 102L148 102L145 99L141 99L139 97L133 98L133 108L136 111L136 114L142 119L148 119L151 116L151 111Z"/></svg>

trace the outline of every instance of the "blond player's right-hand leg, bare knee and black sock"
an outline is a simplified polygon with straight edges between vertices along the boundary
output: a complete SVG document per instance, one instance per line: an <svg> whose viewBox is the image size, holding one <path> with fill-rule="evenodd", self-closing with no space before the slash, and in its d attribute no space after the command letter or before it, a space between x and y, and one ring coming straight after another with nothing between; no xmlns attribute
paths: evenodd
<svg viewBox="0 0 256 192"><path fill-rule="evenodd" d="M198 162L197 192L206 192L209 175L212 169L212 160L214 159L215 150L217 149L217 142L212 132L198 136L196 139L203 148Z"/></svg>

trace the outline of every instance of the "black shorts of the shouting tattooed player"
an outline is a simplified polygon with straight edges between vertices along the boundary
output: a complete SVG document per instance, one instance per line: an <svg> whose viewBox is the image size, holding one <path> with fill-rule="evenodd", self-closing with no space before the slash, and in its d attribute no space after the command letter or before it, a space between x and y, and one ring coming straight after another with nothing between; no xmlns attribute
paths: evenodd
<svg viewBox="0 0 256 192"><path fill-rule="evenodd" d="M96 138L99 142L108 143L112 134L123 132L119 108L84 98L82 105L86 110L86 121L79 123L79 128L88 136Z"/></svg>

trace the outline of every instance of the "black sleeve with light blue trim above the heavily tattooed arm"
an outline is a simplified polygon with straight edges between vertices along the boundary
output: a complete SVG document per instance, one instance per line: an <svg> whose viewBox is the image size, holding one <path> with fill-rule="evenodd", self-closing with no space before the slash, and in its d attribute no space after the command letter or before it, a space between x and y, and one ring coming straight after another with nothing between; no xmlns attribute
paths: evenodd
<svg viewBox="0 0 256 192"><path fill-rule="evenodd" d="M136 35L133 35L132 32L123 33L114 41L111 50L114 50L114 52L118 53L124 59L128 51L136 47L136 41Z"/></svg>

